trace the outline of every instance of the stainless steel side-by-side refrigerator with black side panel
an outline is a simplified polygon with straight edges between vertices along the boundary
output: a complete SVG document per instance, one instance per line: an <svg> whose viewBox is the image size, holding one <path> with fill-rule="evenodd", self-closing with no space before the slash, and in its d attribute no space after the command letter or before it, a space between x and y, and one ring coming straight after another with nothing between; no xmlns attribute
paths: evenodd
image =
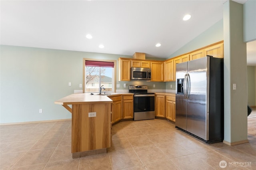
<svg viewBox="0 0 256 170"><path fill-rule="evenodd" d="M223 141L223 59L206 56L176 65L176 128L206 143Z"/></svg>

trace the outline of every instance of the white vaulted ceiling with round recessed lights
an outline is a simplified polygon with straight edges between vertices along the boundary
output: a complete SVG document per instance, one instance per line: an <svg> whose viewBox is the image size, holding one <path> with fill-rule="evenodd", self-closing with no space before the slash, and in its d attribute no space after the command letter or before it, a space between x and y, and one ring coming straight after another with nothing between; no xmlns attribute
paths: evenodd
<svg viewBox="0 0 256 170"><path fill-rule="evenodd" d="M142 52L167 58L221 20L224 2L1 0L0 41L3 45L121 55ZM192 18L184 22L185 14ZM86 34L93 38L85 38ZM156 43L162 45L155 47ZM99 48L100 44L105 47ZM256 65L256 44L251 46Z"/></svg>

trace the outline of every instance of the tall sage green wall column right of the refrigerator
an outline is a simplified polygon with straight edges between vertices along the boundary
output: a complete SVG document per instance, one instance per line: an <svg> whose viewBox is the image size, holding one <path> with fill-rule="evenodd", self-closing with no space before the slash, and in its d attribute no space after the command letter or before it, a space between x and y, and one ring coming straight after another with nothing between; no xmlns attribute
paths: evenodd
<svg viewBox="0 0 256 170"><path fill-rule="evenodd" d="M224 3L224 141L247 140L247 61L243 6ZM236 90L232 85L236 84Z"/></svg>

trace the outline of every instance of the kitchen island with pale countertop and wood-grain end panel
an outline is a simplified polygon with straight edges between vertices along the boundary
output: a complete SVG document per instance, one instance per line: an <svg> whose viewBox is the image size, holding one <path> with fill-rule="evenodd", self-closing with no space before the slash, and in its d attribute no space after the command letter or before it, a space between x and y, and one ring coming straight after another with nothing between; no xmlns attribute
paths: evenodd
<svg viewBox="0 0 256 170"><path fill-rule="evenodd" d="M111 146L111 103L106 95L76 93L54 102L72 113L72 158L102 154ZM72 105L72 108L69 107Z"/></svg>

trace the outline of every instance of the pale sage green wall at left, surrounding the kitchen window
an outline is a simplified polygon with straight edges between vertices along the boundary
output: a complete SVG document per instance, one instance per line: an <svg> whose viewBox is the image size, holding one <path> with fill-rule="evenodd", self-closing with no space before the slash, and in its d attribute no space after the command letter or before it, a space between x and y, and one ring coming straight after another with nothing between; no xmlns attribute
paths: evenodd
<svg viewBox="0 0 256 170"><path fill-rule="evenodd" d="M70 119L54 101L83 81L83 58L118 61L126 55L1 45L0 123ZM117 62L118 64L118 62ZM117 65L118 67L118 65ZM117 73L118 75L118 73ZM68 86L68 82L72 86ZM39 113L43 109L43 113Z"/></svg>

